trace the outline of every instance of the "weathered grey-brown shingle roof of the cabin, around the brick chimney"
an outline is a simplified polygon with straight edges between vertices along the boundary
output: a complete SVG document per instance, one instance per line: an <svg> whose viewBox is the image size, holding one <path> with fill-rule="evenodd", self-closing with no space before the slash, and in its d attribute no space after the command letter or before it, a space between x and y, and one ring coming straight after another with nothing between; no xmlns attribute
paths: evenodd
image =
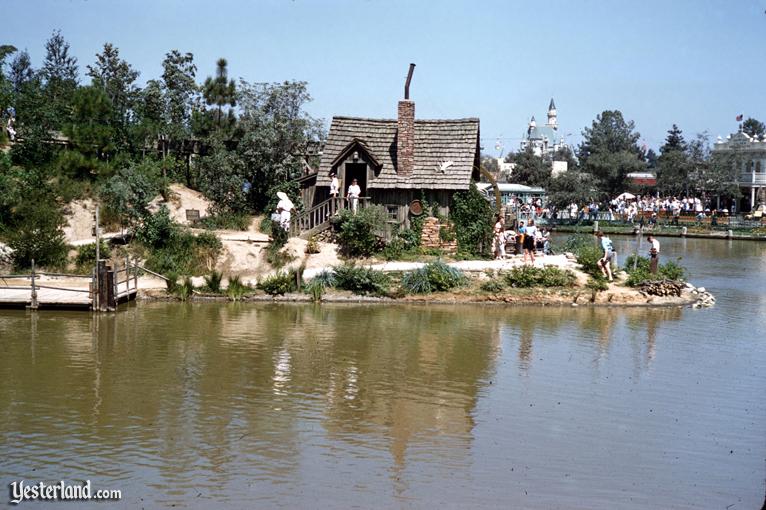
<svg viewBox="0 0 766 510"><path fill-rule="evenodd" d="M415 120L415 165L396 173L396 119L333 117L317 186L330 185L332 163L355 138L381 163L370 189L467 189L479 156L479 119ZM444 165L451 161L451 165ZM446 167L442 170L442 167Z"/></svg>

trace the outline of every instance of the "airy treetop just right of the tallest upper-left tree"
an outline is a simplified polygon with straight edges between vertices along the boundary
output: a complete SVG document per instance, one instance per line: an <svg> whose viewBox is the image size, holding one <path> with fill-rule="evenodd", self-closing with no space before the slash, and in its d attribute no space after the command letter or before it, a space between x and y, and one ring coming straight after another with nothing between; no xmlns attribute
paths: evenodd
<svg viewBox="0 0 766 510"><path fill-rule="evenodd" d="M111 43L105 43L103 51L96 54L95 65L87 67L93 86L103 90L112 104L116 127L123 129L130 122L138 96L135 81L139 72L120 58L120 50Z"/></svg>

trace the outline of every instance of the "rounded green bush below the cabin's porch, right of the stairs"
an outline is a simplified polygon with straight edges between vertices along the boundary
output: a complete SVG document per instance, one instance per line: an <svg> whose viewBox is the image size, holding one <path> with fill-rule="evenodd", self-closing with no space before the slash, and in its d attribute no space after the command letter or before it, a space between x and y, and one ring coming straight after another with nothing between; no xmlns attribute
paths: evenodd
<svg viewBox="0 0 766 510"><path fill-rule="evenodd" d="M342 210L335 220L341 252L349 257L369 257L381 251L387 218L381 206L365 207L356 214L349 209Z"/></svg>

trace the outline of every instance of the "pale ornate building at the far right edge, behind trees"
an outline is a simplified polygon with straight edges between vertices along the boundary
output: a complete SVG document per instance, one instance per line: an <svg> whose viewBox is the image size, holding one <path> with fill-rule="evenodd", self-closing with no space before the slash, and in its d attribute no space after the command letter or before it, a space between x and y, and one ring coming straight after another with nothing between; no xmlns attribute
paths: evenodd
<svg viewBox="0 0 766 510"><path fill-rule="evenodd" d="M737 172L737 184L743 198L739 211L751 211L758 204L766 203L766 138L751 137L740 131L726 139L720 136L713 145L714 152L738 153L742 156L742 167Z"/></svg>

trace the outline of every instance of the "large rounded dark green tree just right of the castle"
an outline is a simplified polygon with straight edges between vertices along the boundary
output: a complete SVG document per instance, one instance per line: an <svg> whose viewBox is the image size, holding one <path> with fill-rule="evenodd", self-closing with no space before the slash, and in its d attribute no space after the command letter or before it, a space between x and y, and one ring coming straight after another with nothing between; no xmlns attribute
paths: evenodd
<svg viewBox="0 0 766 510"><path fill-rule="evenodd" d="M578 149L581 167L609 194L623 190L629 173L646 169L637 143L641 135L634 128L634 122L626 122L619 110L605 110L582 131L584 139Z"/></svg>

